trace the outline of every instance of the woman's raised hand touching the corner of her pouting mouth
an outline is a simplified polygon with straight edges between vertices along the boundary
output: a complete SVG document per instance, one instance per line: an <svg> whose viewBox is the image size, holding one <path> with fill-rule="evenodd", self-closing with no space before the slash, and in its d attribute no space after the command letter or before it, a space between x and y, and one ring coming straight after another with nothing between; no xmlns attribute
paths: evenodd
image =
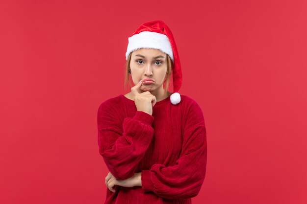
<svg viewBox="0 0 307 204"><path fill-rule="evenodd" d="M142 91L142 80L131 88L131 93L134 98L134 103L137 111L143 111L150 115L153 114L153 106L156 103L156 98L150 91Z"/></svg>

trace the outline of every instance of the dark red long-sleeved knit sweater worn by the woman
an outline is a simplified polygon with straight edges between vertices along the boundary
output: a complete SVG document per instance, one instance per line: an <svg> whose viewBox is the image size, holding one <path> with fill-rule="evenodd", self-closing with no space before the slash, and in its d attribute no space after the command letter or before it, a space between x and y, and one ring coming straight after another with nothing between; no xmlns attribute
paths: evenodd
<svg viewBox="0 0 307 204"><path fill-rule="evenodd" d="M195 100L170 96L153 106L153 114L137 111L123 94L99 106L99 153L118 180L142 172L142 186L106 188L104 204L191 204L205 180L206 129ZM106 176L106 175L105 175Z"/></svg>

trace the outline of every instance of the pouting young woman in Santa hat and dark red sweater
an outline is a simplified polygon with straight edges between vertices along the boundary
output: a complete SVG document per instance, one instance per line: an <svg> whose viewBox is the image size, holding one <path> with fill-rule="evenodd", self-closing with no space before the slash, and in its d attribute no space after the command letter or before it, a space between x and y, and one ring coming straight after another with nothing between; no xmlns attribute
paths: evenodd
<svg viewBox="0 0 307 204"><path fill-rule="evenodd" d="M191 204L205 180L202 109L177 92L179 55L164 22L142 24L128 41L125 85L131 76L134 86L102 102L97 115L99 153L110 171L105 204Z"/></svg>

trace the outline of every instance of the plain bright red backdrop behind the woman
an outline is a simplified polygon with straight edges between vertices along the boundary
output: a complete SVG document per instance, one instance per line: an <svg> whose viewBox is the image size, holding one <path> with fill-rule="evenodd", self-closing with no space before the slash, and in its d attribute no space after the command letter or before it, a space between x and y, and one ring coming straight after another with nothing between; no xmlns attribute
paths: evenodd
<svg viewBox="0 0 307 204"><path fill-rule="evenodd" d="M306 0L2 0L0 203L103 203L97 110L127 92L128 37L153 20L205 116L193 204L306 204Z"/></svg>

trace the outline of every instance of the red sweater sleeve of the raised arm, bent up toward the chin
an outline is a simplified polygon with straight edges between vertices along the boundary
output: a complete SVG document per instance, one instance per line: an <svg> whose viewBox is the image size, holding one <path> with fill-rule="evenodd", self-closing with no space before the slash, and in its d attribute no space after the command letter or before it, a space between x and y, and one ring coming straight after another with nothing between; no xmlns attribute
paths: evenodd
<svg viewBox="0 0 307 204"><path fill-rule="evenodd" d="M144 157L153 139L153 116L136 111L133 117L123 122L115 111L104 103L97 114L99 152L118 180L134 176L139 161Z"/></svg>

